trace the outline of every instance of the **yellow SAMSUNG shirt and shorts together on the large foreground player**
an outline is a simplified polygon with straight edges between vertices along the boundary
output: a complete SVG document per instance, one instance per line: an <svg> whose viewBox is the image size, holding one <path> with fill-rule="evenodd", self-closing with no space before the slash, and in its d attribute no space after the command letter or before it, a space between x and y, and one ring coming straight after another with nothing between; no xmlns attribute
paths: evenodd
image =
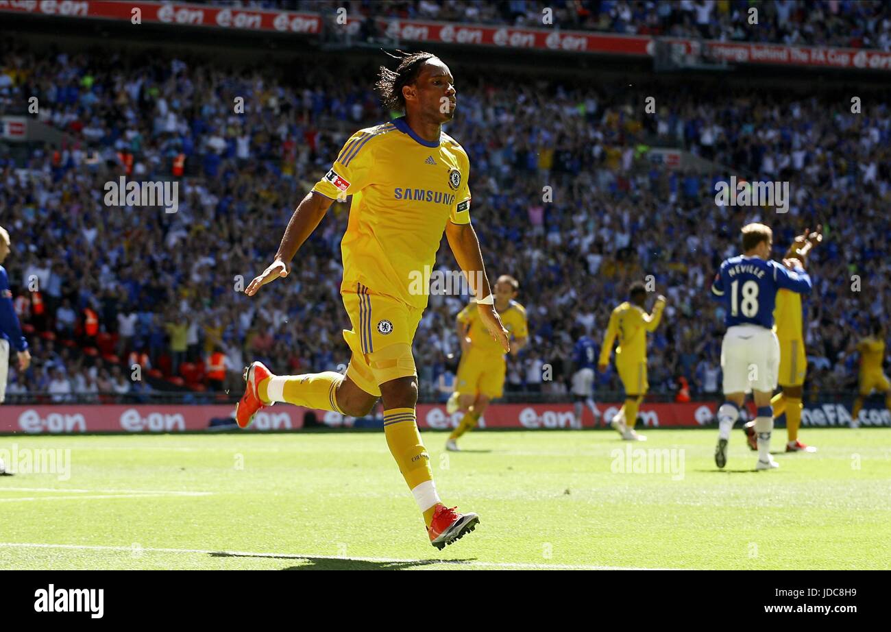
<svg viewBox="0 0 891 632"><path fill-rule="evenodd" d="M445 133L416 135L405 118L352 135L313 187L331 199L352 196L340 243L340 293L352 331L351 380L380 396L378 385L416 375L412 341L428 289L413 280L433 267L446 222L470 223L470 160Z"/></svg>

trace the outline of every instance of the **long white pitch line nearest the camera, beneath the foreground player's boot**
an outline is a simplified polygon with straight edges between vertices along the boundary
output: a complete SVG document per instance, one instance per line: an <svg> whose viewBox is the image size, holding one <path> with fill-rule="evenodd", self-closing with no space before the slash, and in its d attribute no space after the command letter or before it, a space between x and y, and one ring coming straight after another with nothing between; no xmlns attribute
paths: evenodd
<svg viewBox="0 0 891 632"><path fill-rule="evenodd" d="M528 570L683 570L683 569L658 569L639 568L634 566L597 566L595 564L538 564L534 562L471 562L464 560L397 560L389 557L347 557L345 555L307 555L290 553L250 553L247 551L212 551L199 548L153 548L150 546L104 546L104 545L53 545L37 544L30 542L0 542L0 548L61 548L75 549L78 551L120 551L133 553L134 551L148 551L151 553L186 553L186 554L218 554L232 555L233 557L270 557L285 560L343 560L345 562L377 562L377 563L403 563L422 564L436 562L438 564L452 564L454 566L482 566L495 569L528 569Z"/></svg>

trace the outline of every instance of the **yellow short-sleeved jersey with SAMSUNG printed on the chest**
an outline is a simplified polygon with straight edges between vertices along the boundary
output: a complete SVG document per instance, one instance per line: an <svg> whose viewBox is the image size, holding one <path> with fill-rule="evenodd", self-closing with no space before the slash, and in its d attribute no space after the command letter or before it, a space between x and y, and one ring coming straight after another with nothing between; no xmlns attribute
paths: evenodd
<svg viewBox="0 0 891 632"><path fill-rule="evenodd" d="M446 222L470 223L468 176L460 144L446 134L425 141L404 118L352 135L313 187L331 199L353 196L340 242L341 290L361 283L426 308L428 287L417 281L429 277Z"/></svg>

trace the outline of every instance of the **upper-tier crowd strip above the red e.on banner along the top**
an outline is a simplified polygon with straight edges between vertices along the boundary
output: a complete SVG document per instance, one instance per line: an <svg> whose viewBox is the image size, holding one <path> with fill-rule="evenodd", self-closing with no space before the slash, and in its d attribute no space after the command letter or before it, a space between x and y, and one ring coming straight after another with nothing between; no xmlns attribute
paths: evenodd
<svg viewBox="0 0 891 632"><path fill-rule="evenodd" d="M219 0L213 4L336 12L414 20L891 50L891 5L883 0ZM756 19L749 10L756 8Z"/></svg>

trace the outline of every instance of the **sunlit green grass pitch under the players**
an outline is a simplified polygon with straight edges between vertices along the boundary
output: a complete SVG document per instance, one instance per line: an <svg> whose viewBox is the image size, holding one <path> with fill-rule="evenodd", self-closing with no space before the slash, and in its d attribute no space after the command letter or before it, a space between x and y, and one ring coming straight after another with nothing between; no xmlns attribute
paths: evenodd
<svg viewBox="0 0 891 632"><path fill-rule="evenodd" d="M752 471L739 429L725 472L715 430L633 445L479 431L460 454L422 434L444 501L480 516L442 552L380 431L2 437L70 449L70 477L0 477L0 568L891 567L891 429L805 429L819 452L778 454L773 472ZM776 431L775 453L784 442ZM629 448L667 452L629 463Z"/></svg>

